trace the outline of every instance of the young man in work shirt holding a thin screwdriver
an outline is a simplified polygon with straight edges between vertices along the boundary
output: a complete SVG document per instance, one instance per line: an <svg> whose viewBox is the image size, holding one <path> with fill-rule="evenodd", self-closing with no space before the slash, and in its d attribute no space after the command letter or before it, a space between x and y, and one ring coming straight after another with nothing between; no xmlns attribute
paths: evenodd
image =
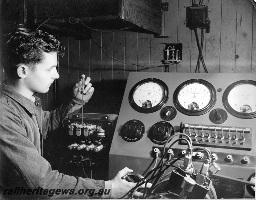
<svg viewBox="0 0 256 200"><path fill-rule="evenodd" d="M121 179L131 169L120 170L109 181L84 179L52 170L41 156L47 133L61 126L68 113L81 108L82 95L87 102L94 91L87 77L84 85L76 83L70 102L51 112L41 110L41 101L33 94L46 93L59 78L60 42L41 30L19 28L7 35L1 48L7 80L1 83L0 92L0 199L1 195L7 199L113 199L132 189L136 183ZM110 193L105 192L108 189Z"/></svg>

